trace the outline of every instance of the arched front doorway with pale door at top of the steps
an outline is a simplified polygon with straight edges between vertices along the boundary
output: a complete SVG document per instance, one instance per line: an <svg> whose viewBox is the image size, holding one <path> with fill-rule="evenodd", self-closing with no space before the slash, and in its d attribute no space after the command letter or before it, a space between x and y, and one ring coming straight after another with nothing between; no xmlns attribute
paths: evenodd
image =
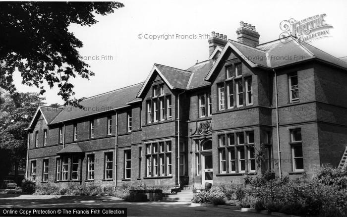
<svg viewBox="0 0 347 217"><path fill-rule="evenodd" d="M213 184L213 157L212 157L212 141L205 140L201 142L201 182Z"/></svg>

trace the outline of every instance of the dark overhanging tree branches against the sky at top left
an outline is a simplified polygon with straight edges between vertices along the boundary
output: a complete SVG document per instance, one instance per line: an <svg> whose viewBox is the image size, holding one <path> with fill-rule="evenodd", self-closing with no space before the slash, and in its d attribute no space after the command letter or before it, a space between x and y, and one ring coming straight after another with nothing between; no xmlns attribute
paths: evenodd
<svg viewBox="0 0 347 217"><path fill-rule="evenodd" d="M16 88L13 72L17 69L22 84L40 88L58 85L65 105L81 107L72 98L71 77L89 79L89 70L76 50L83 47L68 26L91 26L94 14L107 15L123 7L120 2L0 2L0 87L11 94Z"/></svg>

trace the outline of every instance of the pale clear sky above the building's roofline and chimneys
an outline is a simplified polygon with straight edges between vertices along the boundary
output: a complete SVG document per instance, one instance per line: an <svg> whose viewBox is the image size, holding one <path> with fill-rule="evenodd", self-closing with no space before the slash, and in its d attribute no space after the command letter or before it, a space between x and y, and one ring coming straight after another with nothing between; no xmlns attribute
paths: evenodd
<svg viewBox="0 0 347 217"><path fill-rule="evenodd" d="M69 27L83 42L78 51L83 58L89 58L85 62L95 73L90 80L78 77L71 80L77 99L143 82L154 63L187 69L196 61L206 60L209 55L206 35L216 31L237 40L235 31L240 21L254 25L260 43L265 43L279 38L281 21L325 13L326 23L333 26L331 37L310 44L336 57L347 56L346 0L119 1L125 6L107 16L96 15L97 24ZM166 35L174 37L165 40ZM155 36L162 38L150 39ZM39 92L21 81L16 72L14 83L19 92ZM49 89L47 84L45 87L48 105L63 104L57 87Z"/></svg>

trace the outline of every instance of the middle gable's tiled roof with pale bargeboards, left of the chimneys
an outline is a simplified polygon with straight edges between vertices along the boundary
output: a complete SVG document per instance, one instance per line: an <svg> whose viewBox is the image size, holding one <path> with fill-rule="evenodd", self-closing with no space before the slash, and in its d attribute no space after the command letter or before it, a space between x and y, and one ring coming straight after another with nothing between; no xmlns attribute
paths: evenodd
<svg viewBox="0 0 347 217"><path fill-rule="evenodd" d="M186 90L187 84L191 75L191 71L173 68L166 65L154 64L152 70L145 83L142 85L140 91L136 95L137 98L140 98L143 91L147 87L152 75L157 72L159 76L164 80L164 82L169 86L170 89L181 89Z"/></svg>

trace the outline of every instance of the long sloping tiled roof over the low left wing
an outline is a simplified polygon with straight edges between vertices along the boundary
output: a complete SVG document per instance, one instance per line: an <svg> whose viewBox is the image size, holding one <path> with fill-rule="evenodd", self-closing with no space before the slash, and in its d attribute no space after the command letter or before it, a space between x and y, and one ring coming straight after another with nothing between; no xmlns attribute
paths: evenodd
<svg viewBox="0 0 347 217"><path fill-rule="evenodd" d="M143 82L86 98L80 102L84 109L65 106L50 124L129 107L127 103L134 99L142 84Z"/></svg>

